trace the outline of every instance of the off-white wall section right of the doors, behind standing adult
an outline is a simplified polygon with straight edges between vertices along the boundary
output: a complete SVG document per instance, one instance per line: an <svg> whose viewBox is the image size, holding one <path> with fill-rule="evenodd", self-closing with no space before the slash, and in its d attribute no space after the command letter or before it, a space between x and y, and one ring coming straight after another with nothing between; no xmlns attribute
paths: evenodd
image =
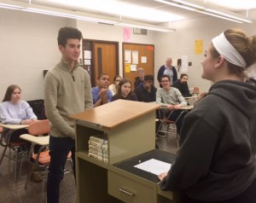
<svg viewBox="0 0 256 203"><path fill-rule="evenodd" d="M229 28L241 28L248 35L256 34L256 10L249 12L253 23L235 23L206 16L205 18L172 22L169 26L177 32L155 33L155 74L158 68L165 64L167 57L172 57L173 66L177 66L177 59L188 55L192 66L189 67L189 88L198 86L201 91L209 90L211 82L201 78L201 61L204 55L195 55L195 40L203 40L203 48L207 49L212 38ZM158 68L157 68L158 67ZM178 73L179 77L180 73Z"/></svg>

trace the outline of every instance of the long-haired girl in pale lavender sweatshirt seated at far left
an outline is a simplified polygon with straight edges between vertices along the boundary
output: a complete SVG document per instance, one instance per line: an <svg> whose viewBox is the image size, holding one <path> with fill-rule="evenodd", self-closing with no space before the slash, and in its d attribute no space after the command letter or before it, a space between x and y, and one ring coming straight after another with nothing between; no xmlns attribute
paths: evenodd
<svg viewBox="0 0 256 203"><path fill-rule="evenodd" d="M29 125L37 119L37 116L32 111L32 107L26 101L21 100L20 87L16 84L9 85L5 92L3 102L0 103L0 121L3 124ZM8 131L5 132L8 133ZM26 129L14 131L9 141L25 142L20 139L20 135L26 133L28 133ZM30 142L27 142L27 149L30 144Z"/></svg>

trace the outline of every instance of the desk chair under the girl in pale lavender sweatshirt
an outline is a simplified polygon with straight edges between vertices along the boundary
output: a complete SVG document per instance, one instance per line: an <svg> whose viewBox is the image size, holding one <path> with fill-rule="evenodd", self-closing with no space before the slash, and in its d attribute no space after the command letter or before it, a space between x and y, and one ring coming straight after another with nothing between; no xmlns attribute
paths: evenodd
<svg viewBox="0 0 256 203"><path fill-rule="evenodd" d="M23 150L21 147L26 146L27 142L11 142L10 136L12 134L12 130L0 127L0 145L3 146L3 154L0 159L0 166L2 165L3 158L6 157L15 162L15 182L17 181L17 164L18 158L26 156L28 152ZM7 148L9 148L9 154L6 153ZM15 151L15 155L12 156L11 150ZM22 162L21 162L22 163ZM20 170L22 165L20 164Z"/></svg>

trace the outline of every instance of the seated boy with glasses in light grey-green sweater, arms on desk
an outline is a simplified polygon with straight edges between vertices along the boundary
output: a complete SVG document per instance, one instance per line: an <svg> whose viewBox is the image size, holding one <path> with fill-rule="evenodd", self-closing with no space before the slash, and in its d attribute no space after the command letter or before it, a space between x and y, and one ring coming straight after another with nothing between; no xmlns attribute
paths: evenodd
<svg viewBox="0 0 256 203"><path fill-rule="evenodd" d="M161 107L166 107L168 111L163 116L168 117L169 113L172 114L170 116L170 120L176 120L178 115L182 112L178 110L180 107L186 107L187 102L183 98L182 94L180 93L177 88L171 86L171 79L168 75L162 75L160 77L160 83L163 86L156 91L156 103L160 104ZM159 122L156 122L157 129L160 125ZM182 119L179 119L176 126L177 126L177 133L179 134L182 125ZM158 136L162 136L158 134Z"/></svg>

